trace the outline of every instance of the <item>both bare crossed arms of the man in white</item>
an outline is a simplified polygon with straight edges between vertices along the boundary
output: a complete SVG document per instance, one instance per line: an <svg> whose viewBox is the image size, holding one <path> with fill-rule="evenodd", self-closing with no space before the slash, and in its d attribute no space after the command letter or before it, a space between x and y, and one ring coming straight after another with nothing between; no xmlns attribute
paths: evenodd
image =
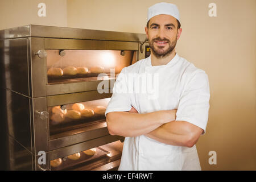
<svg viewBox="0 0 256 182"><path fill-rule="evenodd" d="M138 114L132 107L129 112L106 114L106 122L111 135L146 135L162 143L192 147L203 133L203 129L186 121L175 121L176 111L160 110Z"/></svg>

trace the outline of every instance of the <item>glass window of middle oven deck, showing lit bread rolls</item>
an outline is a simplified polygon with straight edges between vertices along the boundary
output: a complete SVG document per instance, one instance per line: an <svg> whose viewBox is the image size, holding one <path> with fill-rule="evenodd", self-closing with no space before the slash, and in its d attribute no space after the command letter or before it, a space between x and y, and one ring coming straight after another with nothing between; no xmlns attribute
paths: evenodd
<svg viewBox="0 0 256 182"><path fill-rule="evenodd" d="M48 107L49 135L83 131L84 127L105 122L110 98ZM73 131L72 131L73 130ZM65 134L67 133L67 134Z"/></svg>

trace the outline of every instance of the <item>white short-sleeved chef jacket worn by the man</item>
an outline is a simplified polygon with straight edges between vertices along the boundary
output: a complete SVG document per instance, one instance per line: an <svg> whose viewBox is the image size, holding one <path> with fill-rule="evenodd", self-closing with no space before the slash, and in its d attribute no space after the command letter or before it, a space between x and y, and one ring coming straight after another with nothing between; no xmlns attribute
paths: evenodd
<svg viewBox="0 0 256 182"><path fill-rule="evenodd" d="M207 74L177 53L168 64L154 67L150 57L122 69L105 114L129 111L131 106L138 113L177 109L176 121L190 122L205 132L210 98ZM118 170L200 169L196 146L172 146L141 135L125 138Z"/></svg>

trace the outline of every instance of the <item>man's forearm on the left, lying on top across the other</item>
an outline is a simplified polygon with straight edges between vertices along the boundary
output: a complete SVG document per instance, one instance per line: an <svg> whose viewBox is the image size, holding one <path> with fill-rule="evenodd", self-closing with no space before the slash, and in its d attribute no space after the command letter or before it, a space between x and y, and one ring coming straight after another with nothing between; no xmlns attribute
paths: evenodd
<svg viewBox="0 0 256 182"><path fill-rule="evenodd" d="M129 112L112 112L106 114L109 133L123 137L138 137L150 133L164 123L174 120L171 111L155 111L135 114Z"/></svg>

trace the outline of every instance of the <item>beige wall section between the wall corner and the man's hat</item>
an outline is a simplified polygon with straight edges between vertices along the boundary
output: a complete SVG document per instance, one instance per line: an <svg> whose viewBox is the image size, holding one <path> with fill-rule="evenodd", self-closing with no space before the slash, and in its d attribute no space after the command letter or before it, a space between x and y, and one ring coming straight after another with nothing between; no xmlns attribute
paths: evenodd
<svg viewBox="0 0 256 182"><path fill-rule="evenodd" d="M67 0L68 26L144 33L148 1Z"/></svg>

